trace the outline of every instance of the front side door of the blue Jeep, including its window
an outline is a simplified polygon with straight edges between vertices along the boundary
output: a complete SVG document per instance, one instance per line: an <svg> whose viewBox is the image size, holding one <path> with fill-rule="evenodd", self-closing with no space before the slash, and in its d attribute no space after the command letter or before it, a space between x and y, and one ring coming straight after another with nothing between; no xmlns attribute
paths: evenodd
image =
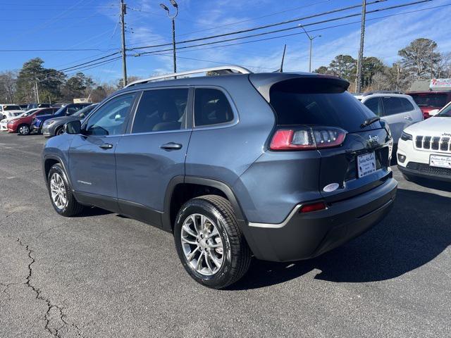
<svg viewBox="0 0 451 338"><path fill-rule="evenodd" d="M114 151L125 132L135 92L114 96L102 104L82 125L69 149L69 173L76 192L91 204L109 210L116 205Z"/></svg>

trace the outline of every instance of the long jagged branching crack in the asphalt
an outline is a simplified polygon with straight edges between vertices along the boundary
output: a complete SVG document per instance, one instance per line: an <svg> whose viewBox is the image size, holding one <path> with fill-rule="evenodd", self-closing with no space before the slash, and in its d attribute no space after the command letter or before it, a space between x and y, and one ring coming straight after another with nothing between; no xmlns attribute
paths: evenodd
<svg viewBox="0 0 451 338"><path fill-rule="evenodd" d="M20 246L22 246L23 248L25 248L25 250L27 251L28 257L31 259L30 264L28 264L27 268L28 268L28 275L25 278L25 283L0 283L1 286L5 287L5 289L3 290L2 293L6 293L6 290L13 284L25 284L27 287L30 287L30 289L33 290L33 292L35 292L36 294L36 299L40 300L40 301L44 301L47 304L47 311L44 314L44 320L45 320L45 330L47 330L47 332L49 332L51 335L53 335L54 337L61 337L61 330L63 329L63 327L66 326L71 326L74 327L76 332L77 332L77 337L84 337L82 335L82 330L80 330L80 327L78 327L75 323L69 323L65 317L66 315L64 315L63 313L63 306L58 306L56 304L51 303L51 301L47 298L45 298L44 296L42 296L42 292L39 288L35 287L34 284L31 283L31 277L32 277L32 265L36 262L36 259L34 256L32 256L32 250L30 249L30 246L28 244L23 244L23 242L20 240L20 238L16 238L16 241L18 242L18 244ZM53 311L57 311L57 315L58 315L58 320L61 320L61 322L63 323L63 325L60 325L58 327L51 327L51 312Z"/></svg>

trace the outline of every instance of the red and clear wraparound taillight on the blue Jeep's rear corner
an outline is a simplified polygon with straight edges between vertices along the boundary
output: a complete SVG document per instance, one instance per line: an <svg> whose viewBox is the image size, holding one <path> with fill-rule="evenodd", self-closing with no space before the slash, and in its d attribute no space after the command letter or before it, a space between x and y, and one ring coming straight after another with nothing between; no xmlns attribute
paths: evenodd
<svg viewBox="0 0 451 338"><path fill-rule="evenodd" d="M271 150L309 150L340 146L347 132L337 127L302 127L276 130Z"/></svg>

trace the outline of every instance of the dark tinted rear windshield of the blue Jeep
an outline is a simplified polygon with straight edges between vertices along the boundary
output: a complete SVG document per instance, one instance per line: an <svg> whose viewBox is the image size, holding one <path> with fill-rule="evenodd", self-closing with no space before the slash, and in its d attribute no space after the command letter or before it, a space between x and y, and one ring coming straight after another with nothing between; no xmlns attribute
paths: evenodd
<svg viewBox="0 0 451 338"><path fill-rule="evenodd" d="M325 125L358 132L364 120L374 116L333 79L285 80L274 84L269 96L278 125ZM367 129L378 127L373 123Z"/></svg>

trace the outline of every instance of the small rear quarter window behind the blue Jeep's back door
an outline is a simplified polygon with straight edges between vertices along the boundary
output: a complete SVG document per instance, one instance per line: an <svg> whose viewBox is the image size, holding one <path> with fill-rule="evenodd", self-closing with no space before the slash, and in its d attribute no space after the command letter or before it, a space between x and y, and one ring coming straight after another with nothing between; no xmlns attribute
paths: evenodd
<svg viewBox="0 0 451 338"><path fill-rule="evenodd" d="M226 95L218 89L198 88L194 94L194 125L219 125L233 120Z"/></svg>

